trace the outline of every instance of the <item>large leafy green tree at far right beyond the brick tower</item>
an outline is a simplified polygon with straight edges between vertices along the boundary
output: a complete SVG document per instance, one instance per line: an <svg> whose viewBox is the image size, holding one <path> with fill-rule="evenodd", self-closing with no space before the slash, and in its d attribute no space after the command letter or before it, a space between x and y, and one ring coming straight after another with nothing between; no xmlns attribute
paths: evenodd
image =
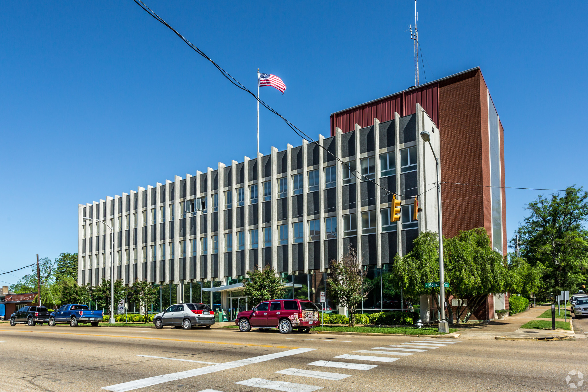
<svg viewBox="0 0 588 392"><path fill-rule="evenodd" d="M576 291L586 280L588 267L588 193L582 187L567 187L565 193L537 196L527 205L530 215L519 227L521 256L531 266L544 269L543 297L562 290ZM510 240L514 247L516 240Z"/></svg>

